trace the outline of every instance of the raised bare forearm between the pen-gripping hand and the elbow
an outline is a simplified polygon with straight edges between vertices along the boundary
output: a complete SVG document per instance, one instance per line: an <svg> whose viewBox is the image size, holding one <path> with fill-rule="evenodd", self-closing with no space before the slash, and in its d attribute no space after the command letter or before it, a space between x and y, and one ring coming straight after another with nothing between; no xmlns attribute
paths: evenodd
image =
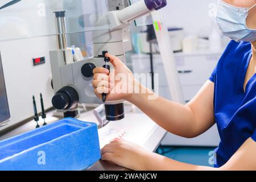
<svg viewBox="0 0 256 182"><path fill-rule="evenodd" d="M141 90L146 90L146 92L141 93ZM128 101L139 107L170 133L188 138L198 133L194 113L188 106L165 100L162 97L152 99L153 95L151 90L140 85L140 93L133 94Z"/></svg>

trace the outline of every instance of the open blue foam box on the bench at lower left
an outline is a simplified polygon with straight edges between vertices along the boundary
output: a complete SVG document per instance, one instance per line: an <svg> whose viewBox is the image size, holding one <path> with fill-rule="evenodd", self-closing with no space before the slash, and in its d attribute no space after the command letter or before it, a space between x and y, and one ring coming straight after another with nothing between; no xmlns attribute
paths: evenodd
<svg viewBox="0 0 256 182"><path fill-rule="evenodd" d="M1 171L79 171L99 159L97 125L73 118L0 142Z"/></svg>

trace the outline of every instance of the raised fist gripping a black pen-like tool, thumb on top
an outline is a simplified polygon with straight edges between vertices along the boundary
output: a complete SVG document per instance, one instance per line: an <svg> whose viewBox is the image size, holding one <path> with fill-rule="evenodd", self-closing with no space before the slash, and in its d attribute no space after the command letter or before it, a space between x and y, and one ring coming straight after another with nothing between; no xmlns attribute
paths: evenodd
<svg viewBox="0 0 256 182"><path fill-rule="evenodd" d="M133 78L133 73L116 56L109 55L109 53L105 56L109 57L115 69L110 74L108 69L103 67L94 69L92 85L96 96L102 99L102 94L106 93L106 101L128 100L137 83Z"/></svg>

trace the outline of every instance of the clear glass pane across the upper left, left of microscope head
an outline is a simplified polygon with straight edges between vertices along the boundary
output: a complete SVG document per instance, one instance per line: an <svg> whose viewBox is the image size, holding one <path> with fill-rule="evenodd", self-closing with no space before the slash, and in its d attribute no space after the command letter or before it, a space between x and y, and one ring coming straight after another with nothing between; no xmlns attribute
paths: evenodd
<svg viewBox="0 0 256 182"><path fill-rule="evenodd" d="M109 29L107 23L95 26L108 12L106 0L22 0L0 10L0 42L58 35L54 12L63 10L67 34Z"/></svg>

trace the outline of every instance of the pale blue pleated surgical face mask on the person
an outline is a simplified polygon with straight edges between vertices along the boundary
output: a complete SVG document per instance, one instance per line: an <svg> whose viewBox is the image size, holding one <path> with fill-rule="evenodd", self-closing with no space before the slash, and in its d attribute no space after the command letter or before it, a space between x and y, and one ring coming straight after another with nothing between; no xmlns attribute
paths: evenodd
<svg viewBox="0 0 256 182"><path fill-rule="evenodd" d="M253 6L255 7L256 4ZM216 22L222 34L236 42L254 42L256 29L246 26L246 18L250 8L235 7L224 1L218 2Z"/></svg>

